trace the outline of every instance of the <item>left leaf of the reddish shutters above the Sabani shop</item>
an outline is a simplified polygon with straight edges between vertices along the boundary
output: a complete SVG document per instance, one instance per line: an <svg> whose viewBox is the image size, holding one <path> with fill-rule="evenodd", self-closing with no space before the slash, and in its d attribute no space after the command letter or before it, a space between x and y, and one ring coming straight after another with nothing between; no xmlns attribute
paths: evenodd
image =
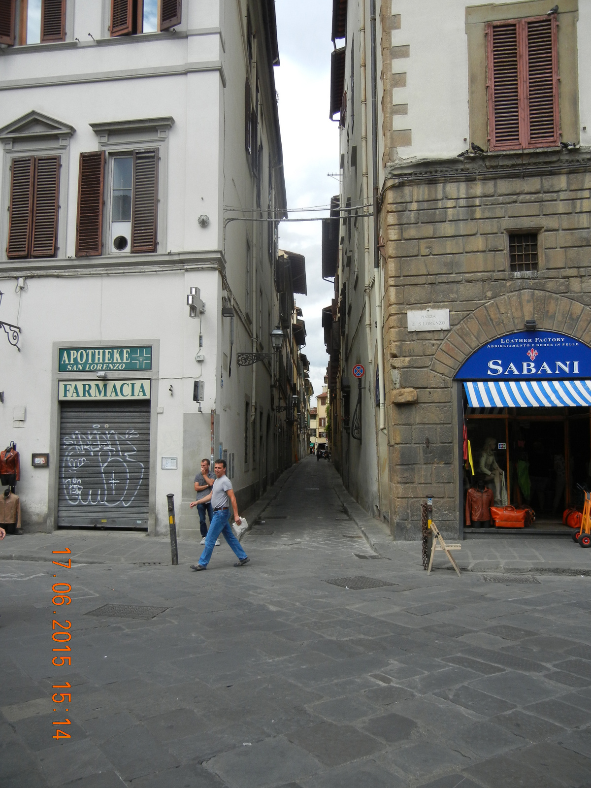
<svg viewBox="0 0 591 788"><path fill-rule="evenodd" d="M487 37L490 149L515 150L521 147L517 24L489 24Z"/></svg>

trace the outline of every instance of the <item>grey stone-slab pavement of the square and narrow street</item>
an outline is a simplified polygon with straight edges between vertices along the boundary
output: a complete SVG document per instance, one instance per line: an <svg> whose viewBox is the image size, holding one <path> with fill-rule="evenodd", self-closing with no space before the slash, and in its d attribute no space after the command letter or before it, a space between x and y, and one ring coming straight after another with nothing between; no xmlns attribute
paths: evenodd
<svg viewBox="0 0 591 788"><path fill-rule="evenodd" d="M240 569L227 545L195 573L195 542L171 567L162 539L6 537L2 788L591 786L591 551L470 541L472 571L427 576L328 463L280 482Z"/></svg>

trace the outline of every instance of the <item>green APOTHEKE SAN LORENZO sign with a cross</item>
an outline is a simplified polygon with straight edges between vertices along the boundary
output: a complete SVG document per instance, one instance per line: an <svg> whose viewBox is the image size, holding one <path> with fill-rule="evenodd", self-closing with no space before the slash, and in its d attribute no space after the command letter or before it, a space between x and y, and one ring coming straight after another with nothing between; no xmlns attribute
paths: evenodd
<svg viewBox="0 0 591 788"><path fill-rule="evenodd" d="M60 372L149 372L151 345L59 348Z"/></svg>

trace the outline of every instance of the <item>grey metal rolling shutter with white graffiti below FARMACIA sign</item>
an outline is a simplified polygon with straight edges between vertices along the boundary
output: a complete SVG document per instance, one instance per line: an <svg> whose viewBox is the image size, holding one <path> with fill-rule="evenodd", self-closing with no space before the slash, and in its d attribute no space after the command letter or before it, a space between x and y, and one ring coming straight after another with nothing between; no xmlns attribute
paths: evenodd
<svg viewBox="0 0 591 788"><path fill-rule="evenodd" d="M59 526L147 528L150 403L61 406Z"/></svg>

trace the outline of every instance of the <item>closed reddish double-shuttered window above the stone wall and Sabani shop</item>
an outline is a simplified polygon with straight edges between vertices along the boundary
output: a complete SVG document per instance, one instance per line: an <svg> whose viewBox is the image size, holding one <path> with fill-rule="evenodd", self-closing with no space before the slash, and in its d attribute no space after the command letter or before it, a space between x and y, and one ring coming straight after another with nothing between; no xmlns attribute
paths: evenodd
<svg viewBox="0 0 591 788"><path fill-rule="evenodd" d="M486 36L489 149L558 146L556 13L489 22Z"/></svg>

